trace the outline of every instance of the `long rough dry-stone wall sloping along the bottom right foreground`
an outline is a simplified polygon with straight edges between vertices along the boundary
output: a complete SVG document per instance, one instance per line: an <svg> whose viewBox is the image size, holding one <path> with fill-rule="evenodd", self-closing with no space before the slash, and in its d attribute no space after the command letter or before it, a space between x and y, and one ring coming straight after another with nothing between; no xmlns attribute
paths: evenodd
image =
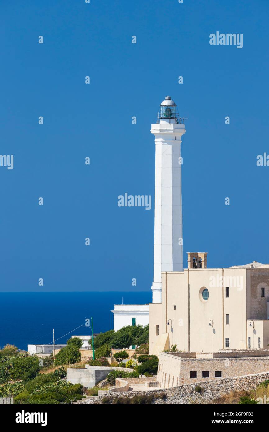
<svg viewBox="0 0 269 432"><path fill-rule="evenodd" d="M109 397L133 397L136 394L155 395L153 403L161 404L192 404L192 403L209 403L223 394L229 394L231 391L254 390L258 384L269 379L269 372L260 374L244 375L236 378L219 378L214 381L204 381L196 384L185 384L179 387L168 388L156 391L128 391L117 394L109 394ZM195 386L202 387L202 393L195 391ZM159 394L165 393L165 398L158 397ZM106 395L108 396L108 395ZM102 403L102 397L95 397L89 400L82 400L82 404Z"/></svg>

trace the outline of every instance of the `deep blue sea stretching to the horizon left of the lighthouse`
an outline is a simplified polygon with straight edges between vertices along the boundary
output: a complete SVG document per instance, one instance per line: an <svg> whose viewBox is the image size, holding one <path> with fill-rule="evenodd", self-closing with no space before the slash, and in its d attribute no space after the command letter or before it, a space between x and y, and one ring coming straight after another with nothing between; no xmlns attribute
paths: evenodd
<svg viewBox="0 0 269 432"><path fill-rule="evenodd" d="M0 348L7 343L27 350L28 344L66 343L72 335L113 329L111 310L118 304L152 302L152 292L0 292Z"/></svg>

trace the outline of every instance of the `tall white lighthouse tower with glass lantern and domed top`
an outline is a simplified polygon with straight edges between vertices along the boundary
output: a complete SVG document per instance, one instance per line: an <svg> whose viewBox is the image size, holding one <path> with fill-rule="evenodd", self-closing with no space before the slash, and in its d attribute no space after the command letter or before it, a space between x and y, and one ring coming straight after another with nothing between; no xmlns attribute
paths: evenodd
<svg viewBox="0 0 269 432"><path fill-rule="evenodd" d="M155 135L154 279L152 302L161 303L161 272L183 271L181 137L186 132L177 105L166 96Z"/></svg>

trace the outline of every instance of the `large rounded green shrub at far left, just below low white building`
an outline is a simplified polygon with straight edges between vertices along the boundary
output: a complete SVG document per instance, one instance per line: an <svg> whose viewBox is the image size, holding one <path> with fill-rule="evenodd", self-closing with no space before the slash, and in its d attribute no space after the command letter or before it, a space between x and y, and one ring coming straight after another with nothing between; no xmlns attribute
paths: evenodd
<svg viewBox="0 0 269 432"><path fill-rule="evenodd" d="M11 360L12 367L9 369L9 378L23 381L28 381L31 378L35 378L38 374L39 359L36 356L28 357L14 357Z"/></svg>

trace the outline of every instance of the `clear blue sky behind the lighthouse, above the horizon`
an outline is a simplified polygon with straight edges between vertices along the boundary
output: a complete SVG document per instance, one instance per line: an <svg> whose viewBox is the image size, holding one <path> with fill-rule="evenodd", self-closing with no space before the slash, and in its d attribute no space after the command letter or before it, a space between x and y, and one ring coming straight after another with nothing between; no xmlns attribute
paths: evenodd
<svg viewBox="0 0 269 432"><path fill-rule="evenodd" d="M150 289L150 126L166 95L188 118L184 267L187 251L209 267L269 262L267 0L28 0L0 15L0 153L14 155L0 167L1 291ZM209 45L217 31L243 48ZM152 210L118 207L125 192Z"/></svg>

